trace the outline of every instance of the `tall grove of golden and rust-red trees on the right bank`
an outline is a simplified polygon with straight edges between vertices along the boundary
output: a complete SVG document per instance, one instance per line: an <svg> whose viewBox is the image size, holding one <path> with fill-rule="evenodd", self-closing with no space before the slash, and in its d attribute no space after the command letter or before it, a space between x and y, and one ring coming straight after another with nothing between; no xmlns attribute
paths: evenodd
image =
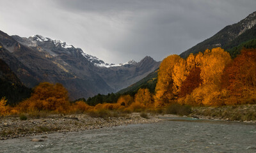
<svg viewBox="0 0 256 153"><path fill-rule="evenodd" d="M220 47L187 59L171 55L161 63L157 79L156 106L256 103L256 50L244 48L233 61Z"/></svg>

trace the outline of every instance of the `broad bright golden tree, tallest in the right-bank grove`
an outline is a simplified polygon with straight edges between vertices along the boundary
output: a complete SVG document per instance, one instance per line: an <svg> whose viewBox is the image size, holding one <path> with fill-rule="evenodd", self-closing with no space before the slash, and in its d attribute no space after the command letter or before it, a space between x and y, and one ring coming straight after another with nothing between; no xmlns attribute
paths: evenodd
<svg viewBox="0 0 256 153"><path fill-rule="evenodd" d="M191 93L191 97L198 105L223 105L221 76L225 66L232 61L230 55L220 47L212 48L196 55L195 61L201 69L202 85Z"/></svg>

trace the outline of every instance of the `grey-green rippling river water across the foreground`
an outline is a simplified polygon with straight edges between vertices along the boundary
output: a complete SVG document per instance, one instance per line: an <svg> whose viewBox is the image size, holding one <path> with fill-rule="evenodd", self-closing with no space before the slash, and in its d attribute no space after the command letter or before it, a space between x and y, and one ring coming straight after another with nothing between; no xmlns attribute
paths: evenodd
<svg viewBox="0 0 256 153"><path fill-rule="evenodd" d="M168 118L135 124L0 141L0 152L256 152L256 124Z"/></svg>

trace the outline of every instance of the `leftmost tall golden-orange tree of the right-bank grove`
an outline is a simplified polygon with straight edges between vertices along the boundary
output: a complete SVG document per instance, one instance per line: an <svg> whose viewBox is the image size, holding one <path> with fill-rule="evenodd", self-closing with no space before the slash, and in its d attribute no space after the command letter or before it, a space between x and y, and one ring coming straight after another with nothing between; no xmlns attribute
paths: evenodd
<svg viewBox="0 0 256 153"><path fill-rule="evenodd" d="M179 55L170 55L161 62L157 73L156 94L154 96L156 107L164 106L165 103L174 98L172 73L175 64L180 59Z"/></svg>

